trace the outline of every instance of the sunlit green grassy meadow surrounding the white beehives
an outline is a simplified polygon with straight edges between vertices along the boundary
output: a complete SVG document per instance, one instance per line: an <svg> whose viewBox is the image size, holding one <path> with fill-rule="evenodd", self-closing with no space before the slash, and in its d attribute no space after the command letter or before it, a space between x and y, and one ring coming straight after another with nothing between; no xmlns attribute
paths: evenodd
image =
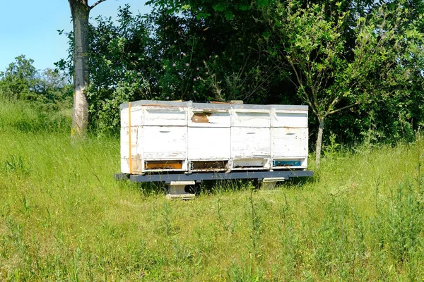
<svg viewBox="0 0 424 282"><path fill-rule="evenodd" d="M423 281L423 152L327 152L319 176L273 192L167 201L113 179L119 140L71 145L69 113L2 100L0 281Z"/></svg>

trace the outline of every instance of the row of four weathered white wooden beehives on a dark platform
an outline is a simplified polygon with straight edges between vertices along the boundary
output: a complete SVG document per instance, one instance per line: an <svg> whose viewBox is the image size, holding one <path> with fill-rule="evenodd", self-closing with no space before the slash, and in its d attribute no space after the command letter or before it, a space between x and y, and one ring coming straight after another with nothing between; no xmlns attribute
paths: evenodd
<svg viewBox="0 0 424 282"><path fill-rule="evenodd" d="M122 104L122 173L306 168L307 114L307 106Z"/></svg>

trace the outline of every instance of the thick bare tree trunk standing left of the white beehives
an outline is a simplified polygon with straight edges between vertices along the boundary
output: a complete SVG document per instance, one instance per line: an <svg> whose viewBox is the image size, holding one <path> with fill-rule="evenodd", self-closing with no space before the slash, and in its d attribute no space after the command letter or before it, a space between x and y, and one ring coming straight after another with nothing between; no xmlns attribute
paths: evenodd
<svg viewBox="0 0 424 282"><path fill-rule="evenodd" d="M72 137L86 137L88 125L88 16L87 0L69 0L73 23L73 115Z"/></svg>

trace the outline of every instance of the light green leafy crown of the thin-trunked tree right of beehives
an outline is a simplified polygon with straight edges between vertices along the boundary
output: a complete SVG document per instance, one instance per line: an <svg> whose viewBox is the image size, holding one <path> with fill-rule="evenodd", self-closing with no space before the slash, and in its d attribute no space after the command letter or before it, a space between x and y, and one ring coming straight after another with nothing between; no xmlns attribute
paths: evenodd
<svg viewBox="0 0 424 282"><path fill-rule="evenodd" d="M351 49L346 49L343 37L350 28L347 12L327 15L325 6L301 8L289 2L287 7L278 8L278 13L283 18L278 24L284 35L281 44L293 68L298 93L317 117L355 104L402 99L410 89L405 80L416 68L401 62L415 57L411 49L423 42L423 35L416 25L403 27L408 10L399 6L391 11L381 6L368 18L358 18ZM408 32L404 35L399 29ZM346 57L349 52L351 58ZM423 55L417 52L416 56Z"/></svg>

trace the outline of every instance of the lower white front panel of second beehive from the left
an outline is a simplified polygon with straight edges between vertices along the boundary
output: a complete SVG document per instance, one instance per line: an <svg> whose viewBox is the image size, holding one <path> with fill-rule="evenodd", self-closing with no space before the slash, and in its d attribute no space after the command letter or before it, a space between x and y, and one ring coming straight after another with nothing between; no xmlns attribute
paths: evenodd
<svg viewBox="0 0 424 282"><path fill-rule="evenodd" d="M188 137L188 158L228 160L231 158L230 128L191 128Z"/></svg>

